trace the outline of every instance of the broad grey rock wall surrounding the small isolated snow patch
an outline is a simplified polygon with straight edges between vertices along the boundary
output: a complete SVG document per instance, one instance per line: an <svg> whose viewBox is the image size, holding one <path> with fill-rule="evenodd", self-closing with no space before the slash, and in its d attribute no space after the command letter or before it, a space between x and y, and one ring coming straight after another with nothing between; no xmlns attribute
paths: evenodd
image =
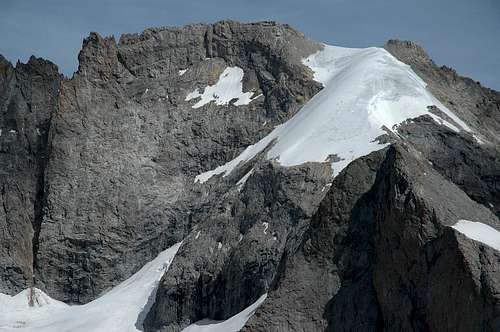
<svg viewBox="0 0 500 332"><path fill-rule="evenodd" d="M54 115L39 287L84 303L182 240L201 195L194 175L232 159L318 91L300 63L316 48L275 23L85 39ZM243 69L243 91L262 97L193 108L186 96L228 66Z"/></svg>

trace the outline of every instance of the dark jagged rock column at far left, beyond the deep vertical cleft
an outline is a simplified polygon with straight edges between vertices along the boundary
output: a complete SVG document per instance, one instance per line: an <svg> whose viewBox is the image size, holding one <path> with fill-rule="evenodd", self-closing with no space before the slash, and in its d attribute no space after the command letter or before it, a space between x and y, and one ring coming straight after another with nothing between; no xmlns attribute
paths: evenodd
<svg viewBox="0 0 500 332"><path fill-rule="evenodd" d="M48 133L61 80L43 59L13 67L0 56L0 293L33 283Z"/></svg>

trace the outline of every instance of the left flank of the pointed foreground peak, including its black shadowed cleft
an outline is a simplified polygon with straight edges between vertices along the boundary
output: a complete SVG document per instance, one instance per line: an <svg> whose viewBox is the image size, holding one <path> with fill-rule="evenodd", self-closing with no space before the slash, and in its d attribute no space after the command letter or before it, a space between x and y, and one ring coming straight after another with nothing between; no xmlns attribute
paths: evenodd
<svg viewBox="0 0 500 332"><path fill-rule="evenodd" d="M299 250L243 331L364 331L377 325L370 268L376 211L369 191L384 155L357 159L335 178Z"/></svg>

